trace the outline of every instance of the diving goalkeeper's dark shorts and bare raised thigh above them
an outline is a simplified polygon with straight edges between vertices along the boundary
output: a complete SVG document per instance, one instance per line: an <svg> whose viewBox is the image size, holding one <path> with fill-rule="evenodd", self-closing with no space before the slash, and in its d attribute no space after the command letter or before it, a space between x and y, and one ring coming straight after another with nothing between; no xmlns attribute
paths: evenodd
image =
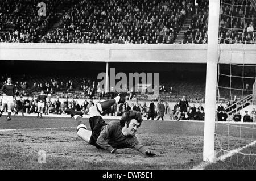
<svg viewBox="0 0 256 181"><path fill-rule="evenodd" d="M104 119L102 119L100 110L98 109L98 104L96 106L92 106L89 108L89 123L90 128L92 129L92 136L90 137L90 144L93 146L96 146L96 148L101 148L96 143L98 136L100 136L101 130L103 129L106 124Z"/></svg>

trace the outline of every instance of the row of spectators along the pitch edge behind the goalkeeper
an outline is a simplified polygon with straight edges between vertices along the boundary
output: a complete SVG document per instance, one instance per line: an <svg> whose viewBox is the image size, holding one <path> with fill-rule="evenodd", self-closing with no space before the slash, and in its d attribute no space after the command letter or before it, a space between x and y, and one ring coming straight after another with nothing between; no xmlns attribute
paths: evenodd
<svg viewBox="0 0 256 181"><path fill-rule="evenodd" d="M1 79L4 79L5 77L2 76ZM39 92L40 90L44 90L47 94L48 90L55 89L59 87L58 81L56 79L51 79L49 83L45 83L42 85L42 83L38 84L36 83L34 85L30 86L28 85L26 80L26 75L23 75L23 80L20 82L16 82L16 87L19 87L22 89L19 91L19 89L15 90L15 104L14 104L14 112L15 114L19 111L23 113L37 113L37 94L34 94L31 96L31 94L28 94L25 90L29 88L33 92ZM91 82L90 79L82 78L80 79L80 82L82 83L80 89L82 90L83 87L90 87L93 88L95 85L95 82ZM3 82L4 83L4 82ZM69 80L67 83L60 83L59 90L63 89L63 91L68 91L72 87L72 81ZM51 87L51 88L50 88ZM88 90L90 90L88 88ZM163 88L163 86L162 86ZM93 88L94 89L94 88ZM86 92L86 91L85 91ZM101 101L101 99L95 98L92 96L92 92L88 91L88 96L85 99L84 102L79 104L77 100L74 98L66 98L62 102L60 102L59 97L52 97L48 94L46 107L44 109L44 113L46 115L49 114L57 114L57 115L65 115L64 112L66 108L73 109L75 111L82 111L84 115L88 115L90 106L94 105L93 100L97 99L97 101ZM113 96L111 97L113 98ZM152 104L152 105L151 105ZM129 110L135 110L142 113L142 116L144 119L156 119L159 120L160 118L162 120L164 119L171 119L171 120L204 120L204 107L202 106L202 103L199 103L199 106L195 106L195 102L193 102L192 99L186 99L185 96L183 96L179 101L176 102L173 108L169 106L167 102L163 103L163 99L159 98L158 100L152 100L150 106L146 105L146 102L143 104L139 103L138 98L133 93L130 93L126 96L126 102L125 103L116 103L112 107L110 107L108 110L105 110L103 115L109 115L109 116L122 116L123 113L129 111ZM192 104L192 106L191 106ZM251 115L241 116L240 111L243 107L246 107L249 103L245 105L241 105L241 102L238 101L237 97L234 96L234 99L232 102L227 102L225 104L226 107L222 106L222 103L217 108L217 120L218 121L241 121L243 122L251 122L255 121L256 113L255 110L251 112ZM232 111L233 110L233 111Z"/></svg>

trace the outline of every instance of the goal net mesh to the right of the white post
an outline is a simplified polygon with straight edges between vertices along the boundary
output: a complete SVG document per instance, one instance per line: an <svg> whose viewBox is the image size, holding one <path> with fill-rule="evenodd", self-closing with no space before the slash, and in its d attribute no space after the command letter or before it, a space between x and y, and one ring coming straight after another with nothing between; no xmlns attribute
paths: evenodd
<svg viewBox="0 0 256 181"><path fill-rule="evenodd" d="M223 163L246 169L256 169L256 65L246 61L248 53L256 57L255 51L246 51L248 44L255 44L254 16L250 0L221 0L220 56L221 45L227 44L230 60L218 62L216 155ZM239 52L236 44L240 44ZM233 61L234 56L242 57L239 63Z"/></svg>

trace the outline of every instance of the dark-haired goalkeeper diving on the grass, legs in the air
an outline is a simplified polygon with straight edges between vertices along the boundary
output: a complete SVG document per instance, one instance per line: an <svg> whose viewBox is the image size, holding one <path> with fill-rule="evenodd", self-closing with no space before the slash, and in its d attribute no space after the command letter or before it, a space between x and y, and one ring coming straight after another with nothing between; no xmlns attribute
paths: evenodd
<svg viewBox="0 0 256 181"><path fill-rule="evenodd" d="M89 108L89 123L92 131L88 130L82 122L82 112L72 109L65 110L77 121L77 136L88 142L90 145L96 146L98 149L104 149L110 153L122 153L119 149L134 148L147 156L154 156L155 152L140 144L135 136L137 129L143 121L141 113L137 111L126 112L121 120L110 121L108 124L102 119L101 113L115 103L124 102L122 95L116 96L114 99L97 103Z"/></svg>

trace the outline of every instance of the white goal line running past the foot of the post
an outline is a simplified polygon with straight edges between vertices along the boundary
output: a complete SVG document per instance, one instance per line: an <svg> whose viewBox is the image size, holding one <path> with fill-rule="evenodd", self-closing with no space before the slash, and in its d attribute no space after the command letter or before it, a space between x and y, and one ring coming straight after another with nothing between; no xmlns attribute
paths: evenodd
<svg viewBox="0 0 256 181"><path fill-rule="evenodd" d="M231 156L233 156L236 153L239 153L240 151L242 151L243 149L246 149L250 146L253 146L256 144L256 141L250 142L249 144L242 146L240 148L234 149L232 151L229 151L228 153L220 156L217 158L217 161L224 161L226 158L229 158ZM210 165L212 163L208 163L208 162L201 162L199 166L193 167L191 170L204 170L206 166Z"/></svg>

